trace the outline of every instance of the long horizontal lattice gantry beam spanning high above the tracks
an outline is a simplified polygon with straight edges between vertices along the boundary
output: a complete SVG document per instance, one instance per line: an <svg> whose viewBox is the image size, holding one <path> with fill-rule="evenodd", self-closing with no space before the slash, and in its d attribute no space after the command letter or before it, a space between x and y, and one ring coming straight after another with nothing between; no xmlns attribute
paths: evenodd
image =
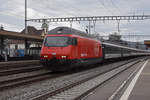
<svg viewBox="0 0 150 100"><path fill-rule="evenodd" d="M32 22L70 22L70 21L104 21L104 20L145 20L150 19L150 15L134 16L92 16L92 17L64 17L64 18L47 18L47 19L29 19Z"/></svg>

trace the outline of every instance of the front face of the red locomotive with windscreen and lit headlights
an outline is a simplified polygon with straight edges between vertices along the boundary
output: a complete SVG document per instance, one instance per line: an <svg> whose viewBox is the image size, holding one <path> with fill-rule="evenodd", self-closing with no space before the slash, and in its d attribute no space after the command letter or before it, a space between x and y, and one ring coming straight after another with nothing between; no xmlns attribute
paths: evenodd
<svg viewBox="0 0 150 100"><path fill-rule="evenodd" d="M47 35L41 49L41 63L55 71L62 71L72 63L77 38L70 35Z"/></svg>

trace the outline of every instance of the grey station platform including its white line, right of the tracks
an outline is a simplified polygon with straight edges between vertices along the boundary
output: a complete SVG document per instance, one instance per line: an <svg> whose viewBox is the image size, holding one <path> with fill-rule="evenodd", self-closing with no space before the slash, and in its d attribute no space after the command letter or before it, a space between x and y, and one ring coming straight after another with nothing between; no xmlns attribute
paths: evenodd
<svg viewBox="0 0 150 100"><path fill-rule="evenodd" d="M133 69L136 67L137 65ZM109 82L108 85L98 87L84 100L109 100L108 98L123 83L123 80L127 78L129 71L124 72L124 74ZM114 100L150 100L150 58L143 62L133 79Z"/></svg>

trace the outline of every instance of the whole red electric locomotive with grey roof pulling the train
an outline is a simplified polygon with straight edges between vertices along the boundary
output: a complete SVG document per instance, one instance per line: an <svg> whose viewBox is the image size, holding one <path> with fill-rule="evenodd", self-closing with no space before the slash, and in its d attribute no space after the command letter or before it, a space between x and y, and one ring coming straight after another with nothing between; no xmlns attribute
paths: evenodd
<svg viewBox="0 0 150 100"><path fill-rule="evenodd" d="M41 63L50 70L65 71L101 62L102 45L84 32L57 27L45 36L40 58Z"/></svg>

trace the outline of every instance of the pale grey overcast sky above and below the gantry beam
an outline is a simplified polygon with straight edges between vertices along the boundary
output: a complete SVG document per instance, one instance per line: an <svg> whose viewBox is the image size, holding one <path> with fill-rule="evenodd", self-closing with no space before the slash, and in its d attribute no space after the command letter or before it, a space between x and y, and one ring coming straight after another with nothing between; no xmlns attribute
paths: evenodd
<svg viewBox="0 0 150 100"><path fill-rule="evenodd" d="M27 0L28 19L71 16L148 15L150 0ZM24 28L24 0L0 0L0 24L6 30L20 32ZM40 29L41 24L28 25ZM69 26L69 23L50 23L49 29ZM88 22L73 22L73 28L85 30ZM149 35L150 20L121 21L121 34ZM101 35L117 31L117 21L96 22L96 32ZM143 39L143 38L142 38ZM146 38L144 38L146 39ZM147 37L150 39L150 37Z"/></svg>

